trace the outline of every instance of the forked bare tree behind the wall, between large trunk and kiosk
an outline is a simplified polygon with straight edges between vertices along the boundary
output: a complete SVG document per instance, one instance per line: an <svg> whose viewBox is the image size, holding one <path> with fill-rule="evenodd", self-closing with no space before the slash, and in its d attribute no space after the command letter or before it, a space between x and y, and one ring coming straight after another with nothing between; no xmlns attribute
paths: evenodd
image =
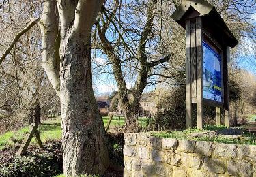
<svg viewBox="0 0 256 177"><path fill-rule="evenodd" d="M165 63L169 60L169 56L162 58L150 58L147 54L149 48L149 41L154 38L153 26L154 19L156 17L158 1L142 1L141 3L128 3L122 4L121 1L114 1L115 4L112 10L102 9L101 18L98 20L98 35L104 54L106 54L111 61L113 67L113 75L118 86L119 104L124 112L124 118L126 120L125 131L137 132L139 127L137 126L137 118L139 114L139 101L143 90L147 86L147 79L150 77L152 69L160 63ZM134 7L132 7L134 5ZM141 12L146 20L141 22L138 27L134 27L130 22L128 25L124 20L127 20L126 14L122 14L119 8L130 7L132 10L141 10L139 5L146 7L145 12ZM117 13L119 10L119 13ZM139 12L138 12L139 13ZM134 14L133 14L134 15ZM137 14L139 16L139 14ZM122 16L123 21L119 21L118 17ZM139 23L139 21L137 21ZM126 27L123 26L126 25ZM119 27L117 27L119 25ZM141 29L142 30L141 30ZM118 35L115 42L111 38L111 34L108 31L115 31ZM136 35L136 37L130 37L129 33ZM136 51L134 51L136 48ZM123 54L122 54L123 52ZM126 72L123 69L123 64L126 63L126 67L130 66L129 71L133 72L136 76L134 86L128 89ZM130 74L131 76L132 74ZM134 77L132 76L132 77Z"/></svg>

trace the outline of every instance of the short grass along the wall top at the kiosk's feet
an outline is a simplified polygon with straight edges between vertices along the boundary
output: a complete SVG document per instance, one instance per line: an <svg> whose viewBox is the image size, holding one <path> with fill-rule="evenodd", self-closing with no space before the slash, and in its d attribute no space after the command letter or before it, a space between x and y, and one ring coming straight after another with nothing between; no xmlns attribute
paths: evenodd
<svg viewBox="0 0 256 177"><path fill-rule="evenodd" d="M152 135L160 138L175 138L177 140L193 140L193 141L207 141L207 142L221 142L225 144L250 144L256 145L256 136L251 133L244 133L242 138L234 139L227 138L223 135L215 136L202 136L202 137L192 137L191 133L199 133L213 130L222 130L225 129L225 126L216 126L216 125L206 125L205 129L186 129L184 131L161 131L152 133Z"/></svg>

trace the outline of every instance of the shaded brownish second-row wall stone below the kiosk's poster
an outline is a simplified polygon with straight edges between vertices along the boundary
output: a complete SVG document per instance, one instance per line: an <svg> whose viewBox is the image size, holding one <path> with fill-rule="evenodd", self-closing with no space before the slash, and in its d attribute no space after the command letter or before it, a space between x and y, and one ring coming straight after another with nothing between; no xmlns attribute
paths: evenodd
<svg viewBox="0 0 256 177"><path fill-rule="evenodd" d="M205 157L203 159L203 168L208 172L214 172L217 174L225 173L225 163L218 159Z"/></svg>

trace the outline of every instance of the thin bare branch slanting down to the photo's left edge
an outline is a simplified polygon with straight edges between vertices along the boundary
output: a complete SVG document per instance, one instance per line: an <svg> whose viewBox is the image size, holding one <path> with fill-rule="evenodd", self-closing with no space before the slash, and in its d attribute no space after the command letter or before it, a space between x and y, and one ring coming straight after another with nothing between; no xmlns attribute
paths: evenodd
<svg viewBox="0 0 256 177"><path fill-rule="evenodd" d="M2 55L2 57L0 58L0 64L3 62L3 60L5 59L5 57L10 54L12 48L14 48L14 45L16 44L16 42L18 42L18 39L20 39L20 37L26 33L27 31L29 31L29 29L31 29L38 21L40 20L40 18L35 18L32 19L27 26L22 29L21 31L18 32L18 34L14 37L14 39L12 40L12 43L10 44L9 48L7 50L5 50L4 54Z"/></svg>

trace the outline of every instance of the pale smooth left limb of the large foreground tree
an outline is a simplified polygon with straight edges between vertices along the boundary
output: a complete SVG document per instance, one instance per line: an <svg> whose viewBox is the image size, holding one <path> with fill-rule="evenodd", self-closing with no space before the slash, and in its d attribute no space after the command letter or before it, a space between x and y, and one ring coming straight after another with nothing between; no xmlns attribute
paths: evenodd
<svg viewBox="0 0 256 177"><path fill-rule="evenodd" d="M55 0L44 1L42 18L38 23L42 35L42 67L46 72L55 92L60 97L59 92L59 20L57 4Z"/></svg>

